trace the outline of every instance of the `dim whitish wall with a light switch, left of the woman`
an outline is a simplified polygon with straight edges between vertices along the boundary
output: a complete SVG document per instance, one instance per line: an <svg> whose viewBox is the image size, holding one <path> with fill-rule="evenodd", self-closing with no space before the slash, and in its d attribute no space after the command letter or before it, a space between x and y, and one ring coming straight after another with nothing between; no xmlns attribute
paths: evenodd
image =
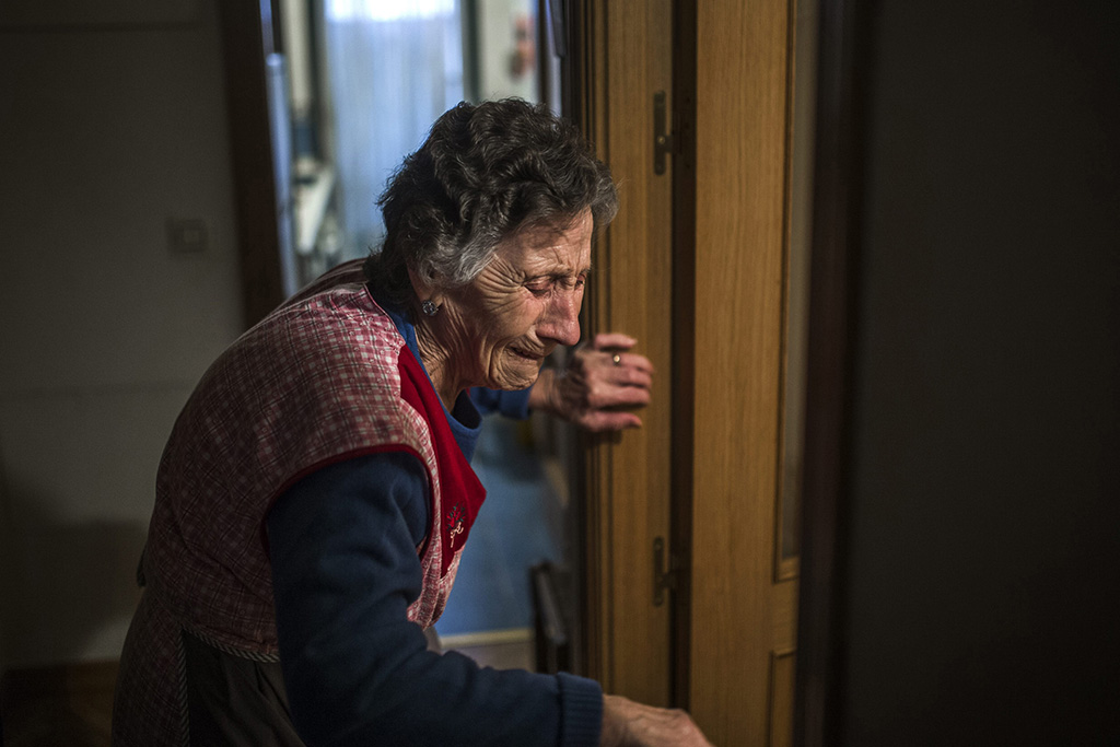
<svg viewBox="0 0 1120 747"><path fill-rule="evenodd" d="M118 655L164 441L241 327L215 8L0 9L0 667Z"/></svg>

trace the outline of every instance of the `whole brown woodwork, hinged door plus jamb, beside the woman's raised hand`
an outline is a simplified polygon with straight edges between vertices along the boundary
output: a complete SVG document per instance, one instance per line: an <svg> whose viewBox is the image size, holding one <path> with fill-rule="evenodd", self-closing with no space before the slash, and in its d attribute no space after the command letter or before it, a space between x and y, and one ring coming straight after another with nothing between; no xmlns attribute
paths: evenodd
<svg viewBox="0 0 1120 747"><path fill-rule="evenodd" d="M794 143L811 141L793 133L795 8L580 8L581 121L623 197L596 255L589 323L635 334L659 371L646 428L589 451L590 673L689 708L716 744L788 744L797 558L782 535L796 502L783 516L782 496L796 493L785 461L802 389L790 375L791 288L802 289L791 234L808 223L791 203ZM664 175L659 91L672 112ZM672 605L652 598L659 538Z"/></svg>

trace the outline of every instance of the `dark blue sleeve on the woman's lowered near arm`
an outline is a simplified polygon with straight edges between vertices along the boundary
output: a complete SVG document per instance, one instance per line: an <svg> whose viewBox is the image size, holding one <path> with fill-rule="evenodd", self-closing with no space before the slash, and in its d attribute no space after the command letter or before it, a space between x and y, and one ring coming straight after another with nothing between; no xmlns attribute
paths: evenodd
<svg viewBox="0 0 1120 747"><path fill-rule="evenodd" d="M407 617L420 594L426 494L419 459L379 454L311 474L269 512L297 731L308 745L597 745L603 693L594 681L427 650Z"/></svg>

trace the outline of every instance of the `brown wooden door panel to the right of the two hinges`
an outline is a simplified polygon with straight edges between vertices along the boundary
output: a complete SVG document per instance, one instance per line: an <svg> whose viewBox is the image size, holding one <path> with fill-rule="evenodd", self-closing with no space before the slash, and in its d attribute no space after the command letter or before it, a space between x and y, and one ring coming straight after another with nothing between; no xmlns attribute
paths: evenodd
<svg viewBox="0 0 1120 747"><path fill-rule="evenodd" d="M803 391L790 239L794 178L795 6L696 4L693 304L679 351L692 401L690 598L683 698L715 744L785 745L793 735L797 557L785 532L799 474ZM800 185L797 185L800 187ZM803 193L801 193L803 194ZM791 273L791 270L793 271ZM788 440L787 433L791 433ZM792 455L791 455L792 456ZM791 547L792 545L792 547Z"/></svg>

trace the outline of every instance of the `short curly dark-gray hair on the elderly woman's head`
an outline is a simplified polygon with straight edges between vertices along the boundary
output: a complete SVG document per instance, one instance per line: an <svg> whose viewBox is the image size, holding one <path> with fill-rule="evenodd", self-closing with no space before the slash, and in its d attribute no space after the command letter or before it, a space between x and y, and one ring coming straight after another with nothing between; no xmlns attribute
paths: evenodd
<svg viewBox="0 0 1120 747"><path fill-rule="evenodd" d="M618 195L572 124L543 104L505 99L444 113L377 204L386 233L365 276L409 305L409 268L433 284L466 284L503 239L530 226L566 228L587 208L598 230L614 218Z"/></svg>

